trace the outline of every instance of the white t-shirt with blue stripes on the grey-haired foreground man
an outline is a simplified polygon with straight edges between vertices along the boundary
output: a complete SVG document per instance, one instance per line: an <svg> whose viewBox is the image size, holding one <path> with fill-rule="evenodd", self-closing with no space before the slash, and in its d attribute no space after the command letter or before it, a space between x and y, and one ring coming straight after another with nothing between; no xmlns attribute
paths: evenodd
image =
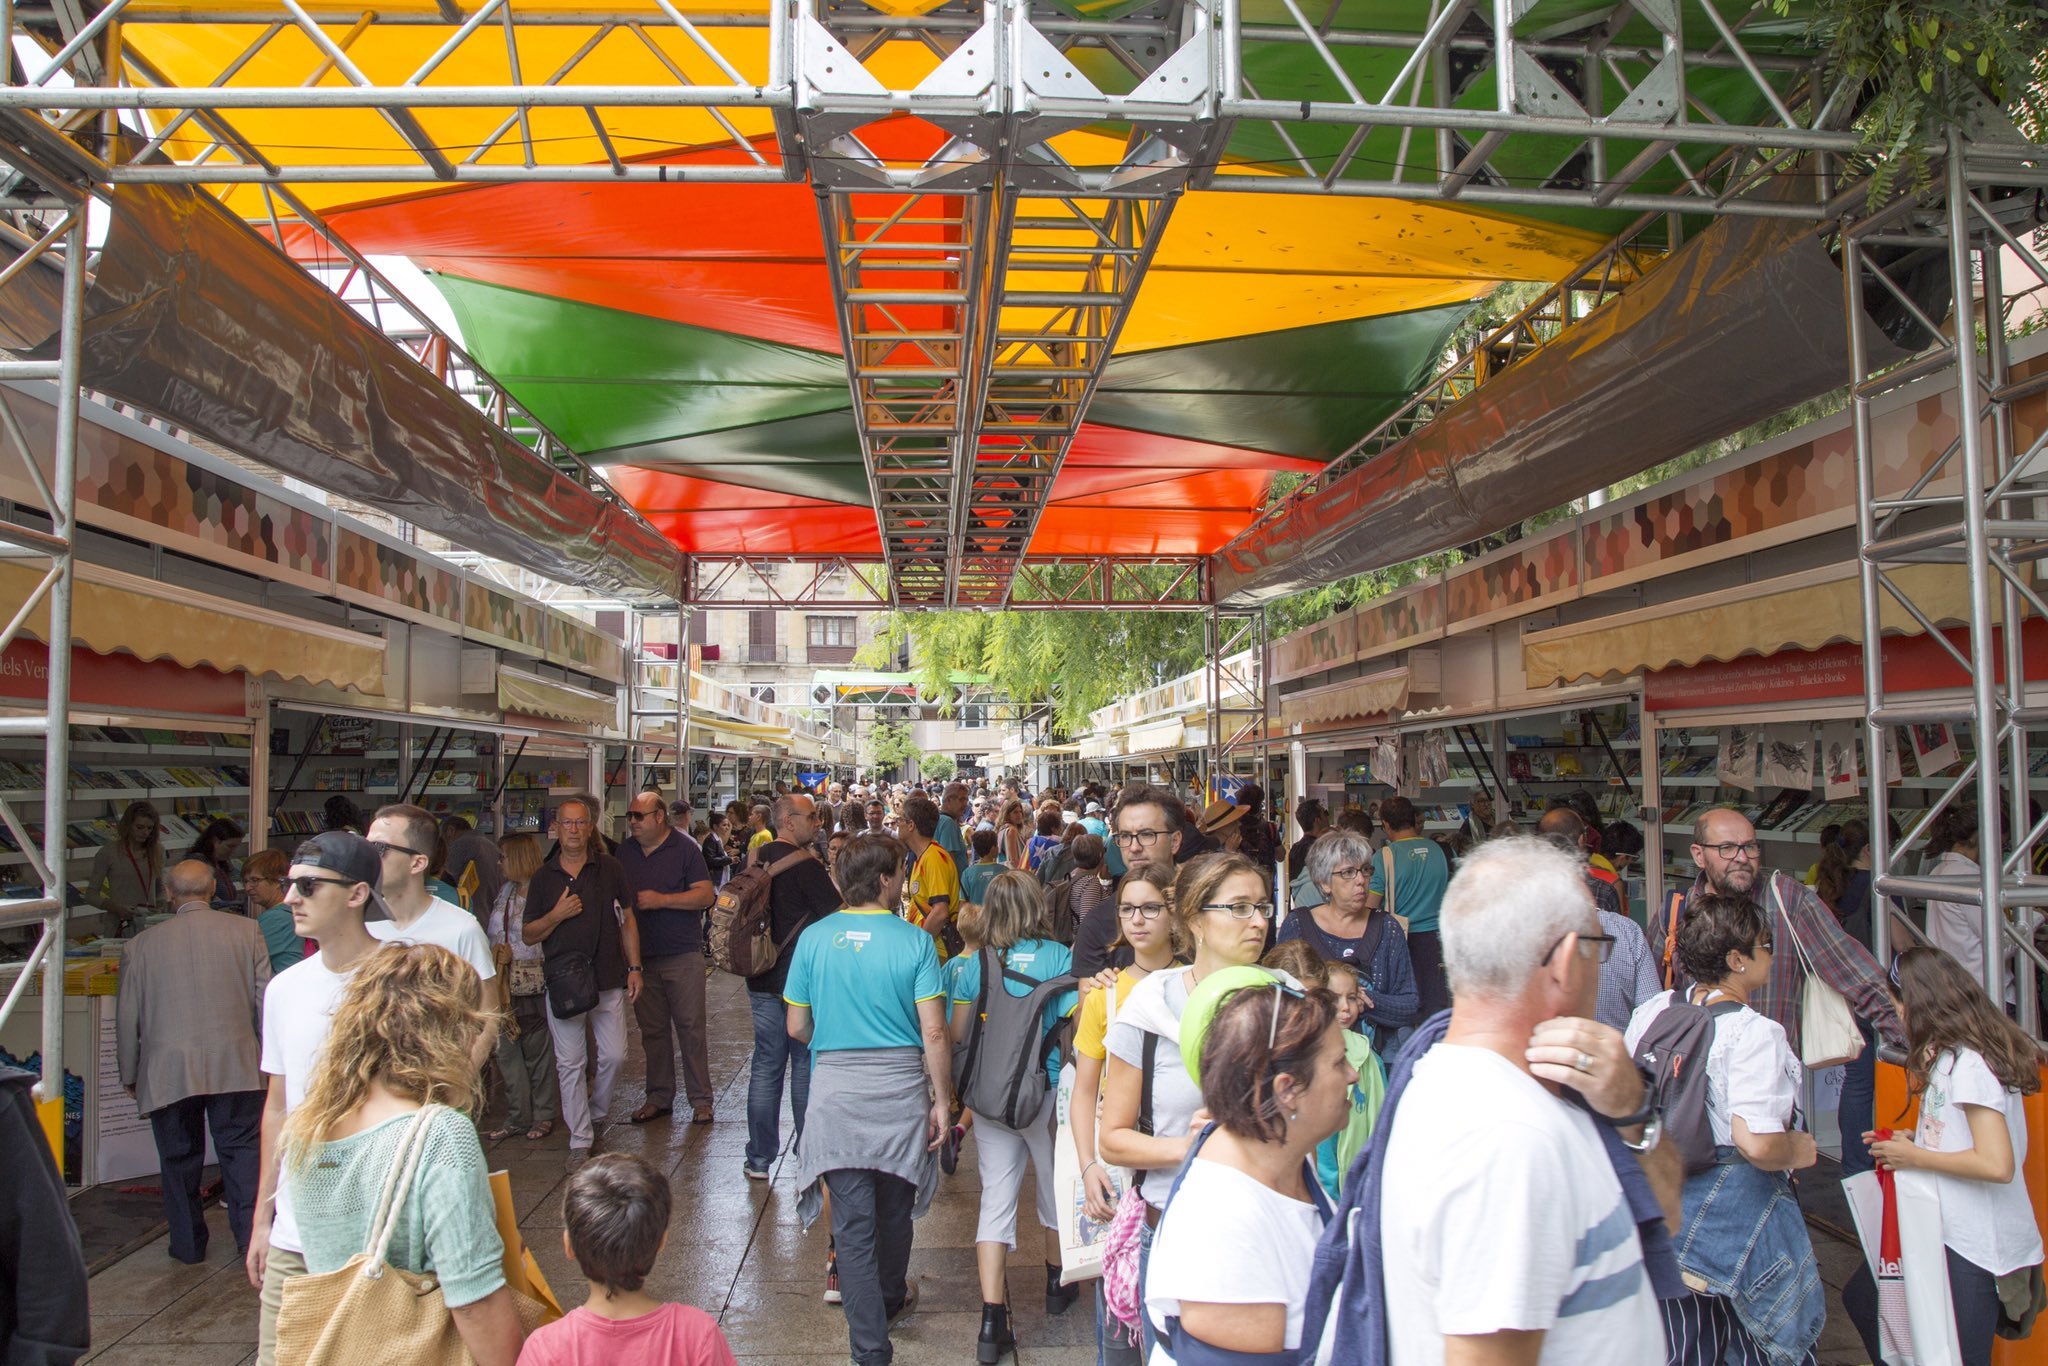
<svg viewBox="0 0 2048 1366"><path fill-rule="evenodd" d="M1446 1042L1415 1063L1393 1124L1393 1366L1440 1366L1444 1337L1509 1329L1544 1331L1544 1366L1665 1358L1634 1214L1585 1110L1497 1053Z"/></svg>

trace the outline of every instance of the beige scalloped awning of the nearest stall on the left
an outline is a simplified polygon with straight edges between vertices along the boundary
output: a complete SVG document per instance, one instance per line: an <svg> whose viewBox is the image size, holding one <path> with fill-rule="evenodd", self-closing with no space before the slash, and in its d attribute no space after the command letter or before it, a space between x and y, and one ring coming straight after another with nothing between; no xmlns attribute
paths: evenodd
<svg viewBox="0 0 2048 1366"><path fill-rule="evenodd" d="M0 561L0 612L12 618L41 580L39 567ZM29 614L25 631L49 643L47 598ZM383 637L190 594L100 565L78 565L72 641L102 655L129 653L383 694Z"/></svg>

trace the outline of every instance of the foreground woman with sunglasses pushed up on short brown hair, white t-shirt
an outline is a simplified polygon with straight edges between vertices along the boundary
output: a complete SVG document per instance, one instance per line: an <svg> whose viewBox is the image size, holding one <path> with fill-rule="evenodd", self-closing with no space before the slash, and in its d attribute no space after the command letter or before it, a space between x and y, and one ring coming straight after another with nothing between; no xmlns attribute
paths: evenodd
<svg viewBox="0 0 2048 1366"><path fill-rule="evenodd" d="M1145 1274L1153 1366L1300 1352L1309 1270L1331 1216L1311 1155L1350 1118L1358 1079L1329 991L1266 971L1225 977L1249 981L1219 979L1206 1028L1190 1018L1180 1047L1214 1122L1174 1182Z"/></svg>

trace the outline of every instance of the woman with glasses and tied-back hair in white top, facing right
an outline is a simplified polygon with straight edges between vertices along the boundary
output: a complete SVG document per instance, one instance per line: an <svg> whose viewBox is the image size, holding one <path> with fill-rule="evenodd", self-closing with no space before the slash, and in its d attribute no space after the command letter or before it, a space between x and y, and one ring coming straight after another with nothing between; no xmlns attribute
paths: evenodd
<svg viewBox="0 0 2048 1366"><path fill-rule="evenodd" d="M1208 1118L1202 1094L1180 1059L1180 1016L1188 993L1214 971L1255 965L1266 952L1266 928L1274 913L1266 877L1243 854L1204 854L1184 864L1174 877L1171 905L1182 938L1194 948L1194 963L1139 981L1104 1040L1108 1063L1098 1143L1104 1161L1133 1173L1124 1200L1145 1202L1141 1266L1174 1171ZM1151 1331L1143 1327L1143 1315L1141 1331L1149 1356Z"/></svg>

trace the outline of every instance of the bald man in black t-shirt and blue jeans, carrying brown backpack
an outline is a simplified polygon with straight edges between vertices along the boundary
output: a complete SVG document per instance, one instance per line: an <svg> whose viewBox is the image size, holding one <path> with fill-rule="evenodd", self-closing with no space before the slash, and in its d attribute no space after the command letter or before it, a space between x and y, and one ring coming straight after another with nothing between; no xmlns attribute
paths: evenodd
<svg viewBox="0 0 2048 1366"><path fill-rule="evenodd" d="M809 797L795 793L778 797L770 813L774 840L762 848L762 868L772 868L799 850L809 850L817 831L817 809ZM748 1079L748 1155L750 1180L766 1182L768 1167L782 1151L776 1120L782 1114L782 1075L788 1073L788 1110L797 1135L803 1135L803 1110L811 1096L811 1049L788 1034L788 1008L782 985L788 979L788 958L797 934L840 909L840 891L817 858L791 864L768 885L768 932L778 944L774 967L748 977L748 1004L754 1008L754 1073Z"/></svg>

